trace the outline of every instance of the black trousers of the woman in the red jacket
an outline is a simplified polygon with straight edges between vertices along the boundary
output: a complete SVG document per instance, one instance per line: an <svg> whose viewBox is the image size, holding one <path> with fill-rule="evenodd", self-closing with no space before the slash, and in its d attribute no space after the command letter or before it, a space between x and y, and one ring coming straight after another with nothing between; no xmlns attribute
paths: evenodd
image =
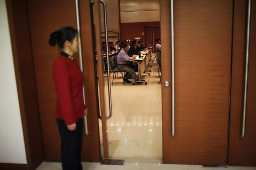
<svg viewBox="0 0 256 170"><path fill-rule="evenodd" d="M77 119L74 131L68 130L65 122L57 119L61 138L61 163L63 170L81 170L83 118Z"/></svg>

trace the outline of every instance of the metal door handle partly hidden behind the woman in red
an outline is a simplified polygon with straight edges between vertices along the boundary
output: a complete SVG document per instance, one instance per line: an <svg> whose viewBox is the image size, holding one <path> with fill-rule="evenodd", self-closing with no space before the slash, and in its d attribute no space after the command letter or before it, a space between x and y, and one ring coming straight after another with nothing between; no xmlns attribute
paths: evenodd
<svg viewBox="0 0 256 170"><path fill-rule="evenodd" d="M78 0L75 0L75 11L77 15L77 31L78 31L78 42L79 42L79 48L78 48L78 53L79 53L79 64L80 64L80 69L83 74L83 58L82 58L82 48L81 48L81 37L80 37L80 21L79 21L79 8L78 8ZM84 104L85 103L85 94L84 94L84 85L83 85L83 98L84 98ZM84 116L84 132L86 136L89 136L90 133L88 132L88 126L87 126L87 117Z"/></svg>

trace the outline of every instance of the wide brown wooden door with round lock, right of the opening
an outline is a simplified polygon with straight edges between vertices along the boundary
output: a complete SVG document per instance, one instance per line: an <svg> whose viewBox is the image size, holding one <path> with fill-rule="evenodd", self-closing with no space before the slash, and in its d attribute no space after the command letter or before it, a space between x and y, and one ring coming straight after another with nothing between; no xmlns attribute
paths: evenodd
<svg viewBox="0 0 256 170"><path fill-rule="evenodd" d="M225 165L233 1L174 1L174 137L170 1L160 8L163 163Z"/></svg>

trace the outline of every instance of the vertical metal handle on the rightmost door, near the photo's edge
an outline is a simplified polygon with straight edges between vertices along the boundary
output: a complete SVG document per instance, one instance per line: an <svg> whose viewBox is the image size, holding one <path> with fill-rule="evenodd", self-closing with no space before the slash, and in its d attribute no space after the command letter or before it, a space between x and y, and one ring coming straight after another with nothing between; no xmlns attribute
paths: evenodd
<svg viewBox="0 0 256 170"><path fill-rule="evenodd" d="M245 135L245 118L246 118L247 87L248 87L248 66L249 66L249 46L250 46L250 22L251 22L251 0L248 0L245 78L244 78L244 107L243 107L241 134L239 134L239 137L241 137L241 138L243 138Z"/></svg>

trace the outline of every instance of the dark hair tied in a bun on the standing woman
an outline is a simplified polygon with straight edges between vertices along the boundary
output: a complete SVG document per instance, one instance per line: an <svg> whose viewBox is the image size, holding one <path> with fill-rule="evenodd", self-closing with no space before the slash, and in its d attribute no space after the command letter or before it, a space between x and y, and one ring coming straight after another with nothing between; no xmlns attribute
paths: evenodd
<svg viewBox="0 0 256 170"><path fill-rule="evenodd" d="M63 48L66 40L72 42L77 34L78 31L72 27L62 27L59 31L56 30L50 34L48 43L50 46L55 46L57 43L60 48Z"/></svg>

